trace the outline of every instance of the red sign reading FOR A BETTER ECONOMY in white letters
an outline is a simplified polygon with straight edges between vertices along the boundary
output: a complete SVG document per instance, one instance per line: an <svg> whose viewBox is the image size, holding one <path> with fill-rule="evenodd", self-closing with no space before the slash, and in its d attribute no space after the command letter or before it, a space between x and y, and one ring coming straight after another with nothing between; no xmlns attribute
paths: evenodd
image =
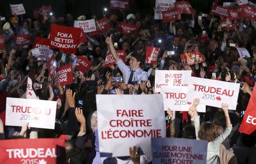
<svg viewBox="0 0 256 164"><path fill-rule="evenodd" d="M80 34L80 28L51 24L50 49L62 50L66 54L75 54Z"/></svg>

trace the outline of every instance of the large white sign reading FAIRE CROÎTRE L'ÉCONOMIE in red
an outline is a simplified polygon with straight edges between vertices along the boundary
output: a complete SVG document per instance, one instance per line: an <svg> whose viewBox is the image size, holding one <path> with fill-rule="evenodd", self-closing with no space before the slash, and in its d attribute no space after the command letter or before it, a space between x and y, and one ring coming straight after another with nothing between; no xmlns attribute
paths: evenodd
<svg viewBox="0 0 256 164"><path fill-rule="evenodd" d="M101 157L130 156L129 147L141 146L151 158L151 137L165 137L161 94L96 95Z"/></svg>

